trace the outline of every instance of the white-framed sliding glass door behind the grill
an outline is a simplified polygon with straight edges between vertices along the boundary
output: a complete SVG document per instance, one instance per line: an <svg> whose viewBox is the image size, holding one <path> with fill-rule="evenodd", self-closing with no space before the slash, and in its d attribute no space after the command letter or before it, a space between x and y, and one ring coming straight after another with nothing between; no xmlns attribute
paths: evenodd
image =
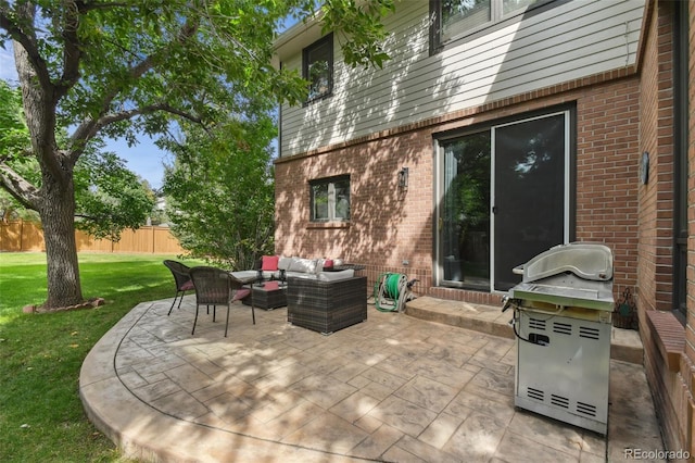
<svg viewBox="0 0 695 463"><path fill-rule="evenodd" d="M440 140L437 272L506 291L514 267L569 239L569 113Z"/></svg>

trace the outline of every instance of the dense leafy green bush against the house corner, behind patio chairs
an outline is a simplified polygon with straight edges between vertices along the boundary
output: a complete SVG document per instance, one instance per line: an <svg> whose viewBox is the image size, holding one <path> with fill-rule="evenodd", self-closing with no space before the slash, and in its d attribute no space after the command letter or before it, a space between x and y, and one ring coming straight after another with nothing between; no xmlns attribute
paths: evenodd
<svg viewBox="0 0 695 463"><path fill-rule="evenodd" d="M164 192L173 233L195 258L231 270L253 268L274 251L275 187L267 110L230 118L213 130L188 126L186 142L170 145L176 162Z"/></svg>

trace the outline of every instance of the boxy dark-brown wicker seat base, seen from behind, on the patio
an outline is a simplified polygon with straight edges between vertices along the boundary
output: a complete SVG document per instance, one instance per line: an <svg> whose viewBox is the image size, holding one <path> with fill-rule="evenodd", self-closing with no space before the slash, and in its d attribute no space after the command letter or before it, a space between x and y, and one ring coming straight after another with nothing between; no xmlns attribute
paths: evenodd
<svg viewBox="0 0 695 463"><path fill-rule="evenodd" d="M367 320L367 277L334 281L289 277L287 320L323 335L364 322Z"/></svg>

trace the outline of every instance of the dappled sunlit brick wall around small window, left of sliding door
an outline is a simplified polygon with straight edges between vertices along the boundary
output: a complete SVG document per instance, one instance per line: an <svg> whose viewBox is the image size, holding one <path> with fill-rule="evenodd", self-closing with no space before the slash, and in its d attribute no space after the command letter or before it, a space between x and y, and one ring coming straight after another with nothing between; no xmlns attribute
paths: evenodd
<svg viewBox="0 0 695 463"><path fill-rule="evenodd" d="M432 251L431 139L422 133L386 137L276 164L276 251L342 258L377 272L430 268ZM409 188L397 172L409 168ZM349 225L309 223L308 180L350 174Z"/></svg>

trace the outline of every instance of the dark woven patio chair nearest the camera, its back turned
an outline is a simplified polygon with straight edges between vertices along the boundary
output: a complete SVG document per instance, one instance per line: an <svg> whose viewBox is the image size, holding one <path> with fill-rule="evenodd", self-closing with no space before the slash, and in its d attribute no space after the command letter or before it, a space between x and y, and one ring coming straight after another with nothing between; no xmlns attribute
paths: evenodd
<svg viewBox="0 0 695 463"><path fill-rule="evenodd" d="M200 305L213 306L213 322L217 305L227 305L227 322L225 325L225 337L229 329L229 310L231 304L251 295L249 288L243 287L243 283L229 274L229 272L216 267L193 267L190 271L191 279L195 286L195 318L193 318L193 330L198 323L198 310ZM251 316L253 324L256 324L256 314L253 303L251 304Z"/></svg>

